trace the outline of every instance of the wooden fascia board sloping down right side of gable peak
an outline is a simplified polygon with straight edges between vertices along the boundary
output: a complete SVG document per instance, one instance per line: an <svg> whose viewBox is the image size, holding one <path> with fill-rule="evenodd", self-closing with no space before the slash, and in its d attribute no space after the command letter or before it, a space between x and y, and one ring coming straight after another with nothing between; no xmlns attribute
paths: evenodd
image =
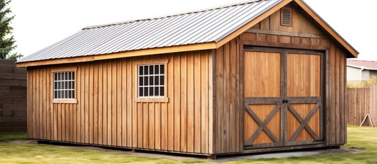
<svg viewBox="0 0 377 164"><path fill-rule="evenodd" d="M348 44L340 35L337 33L328 23L325 23L325 21L317 14L315 13L306 3L304 3L302 0L293 0L295 1L302 9L304 9L305 12L307 12L325 31L330 33L332 37L335 38L336 41L338 41L342 46L347 49L354 57L357 57L358 52L350 45Z"/></svg>

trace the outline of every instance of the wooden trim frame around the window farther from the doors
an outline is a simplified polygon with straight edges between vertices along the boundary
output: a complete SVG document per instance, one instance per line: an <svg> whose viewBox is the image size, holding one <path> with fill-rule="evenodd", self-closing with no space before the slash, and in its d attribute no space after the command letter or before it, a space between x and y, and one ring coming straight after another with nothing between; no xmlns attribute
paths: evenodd
<svg viewBox="0 0 377 164"><path fill-rule="evenodd" d="M59 99L55 99L54 98L54 73L57 73L57 72L74 72L75 74L75 83L74 83L74 86L75 86L75 92L73 94L73 96L75 98L59 98ZM51 78L50 78L50 86L51 86L51 99L52 99L52 103L65 103L65 104L77 104L78 103L78 100L77 100L77 67L76 66L72 66L72 67L65 67L65 68L52 68L50 70L50 74L51 74Z"/></svg>

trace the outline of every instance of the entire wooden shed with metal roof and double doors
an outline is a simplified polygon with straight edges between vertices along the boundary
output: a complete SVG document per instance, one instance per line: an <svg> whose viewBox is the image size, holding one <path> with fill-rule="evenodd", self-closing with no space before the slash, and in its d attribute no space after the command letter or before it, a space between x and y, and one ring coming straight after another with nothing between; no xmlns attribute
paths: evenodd
<svg viewBox="0 0 377 164"><path fill-rule="evenodd" d="M301 0L84 28L27 67L30 139L216 156L346 143L346 58Z"/></svg>

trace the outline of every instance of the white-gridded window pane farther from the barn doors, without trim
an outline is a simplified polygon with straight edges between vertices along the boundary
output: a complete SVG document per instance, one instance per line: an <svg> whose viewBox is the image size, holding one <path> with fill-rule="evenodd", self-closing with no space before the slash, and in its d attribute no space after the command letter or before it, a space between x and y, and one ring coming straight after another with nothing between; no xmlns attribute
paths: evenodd
<svg viewBox="0 0 377 164"><path fill-rule="evenodd" d="M75 72L54 72L54 99L75 98Z"/></svg>

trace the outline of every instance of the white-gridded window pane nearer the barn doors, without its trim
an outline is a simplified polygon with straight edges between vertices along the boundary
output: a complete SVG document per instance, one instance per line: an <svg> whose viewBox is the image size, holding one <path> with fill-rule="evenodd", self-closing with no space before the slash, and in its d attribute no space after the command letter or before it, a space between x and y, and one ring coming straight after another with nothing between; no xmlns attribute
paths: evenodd
<svg viewBox="0 0 377 164"><path fill-rule="evenodd" d="M163 98L165 96L165 64L138 66L138 97Z"/></svg>

